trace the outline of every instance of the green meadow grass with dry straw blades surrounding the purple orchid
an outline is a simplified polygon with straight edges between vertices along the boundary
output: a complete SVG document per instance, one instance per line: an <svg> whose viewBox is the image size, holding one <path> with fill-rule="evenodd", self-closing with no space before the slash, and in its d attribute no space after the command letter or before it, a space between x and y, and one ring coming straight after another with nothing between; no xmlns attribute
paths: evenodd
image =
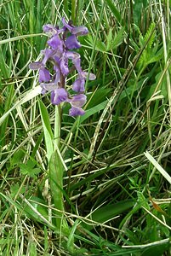
<svg viewBox="0 0 171 256"><path fill-rule="evenodd" d="M170 5L0 3L1 255L171 255ZM79 54L96 80L86 84L83 117L63 106L61 154L51 166L60 159L66 168L64 187L54 183L52 193L54 106L28 65L46 47L43 25L62 16L88 27ZM64 215L54 208L59 193ZM69 234L56 229L59 216Z"/></svg>

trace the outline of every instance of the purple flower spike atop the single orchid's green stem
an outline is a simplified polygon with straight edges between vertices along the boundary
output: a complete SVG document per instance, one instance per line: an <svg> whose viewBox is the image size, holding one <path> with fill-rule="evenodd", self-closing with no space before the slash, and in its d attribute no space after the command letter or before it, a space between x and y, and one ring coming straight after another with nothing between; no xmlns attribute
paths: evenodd
<svg viewBox="0 0 171 256"><path fill-rule="evenodd" d="M81 67L81 56L71 49L79 49L81 44L77 40L78 36L88 34L86 26L73 26L72 22L66 23L62 18L63 27L59 28L53 25L44 25L43 32L48 37L48 48L41 50L42 61L32 62L30 68L39 70L39 82L42 87L42 93L51 92L51 102L59 105L61 102L71 104L69 115L83 115L83 105L87 97L84 95L84 84L86 79L94 80L93 73L86 73ZM70 61L71 60L71 61ZM69 67L70 62L72 66ZM53 74L48 70L47 65L53 65ZM74 70L77 70L77 79L72 84L72 90L77 92L70 96L66 90L66 78Z"/></svg>

